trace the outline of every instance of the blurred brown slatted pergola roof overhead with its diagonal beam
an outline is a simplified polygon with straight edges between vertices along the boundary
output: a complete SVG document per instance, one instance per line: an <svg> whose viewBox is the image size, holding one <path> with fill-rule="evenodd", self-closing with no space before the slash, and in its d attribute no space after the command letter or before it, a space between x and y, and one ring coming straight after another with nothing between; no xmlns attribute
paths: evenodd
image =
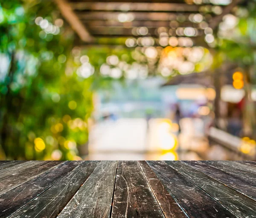
<svg viewBox="0 0 256 218"><path fill-rule="evenodd" d="M55 0L79 44L124 44L127 38L189 37L201 44L241 0ZM184 33L184 29L187 32Z"/></svg>

